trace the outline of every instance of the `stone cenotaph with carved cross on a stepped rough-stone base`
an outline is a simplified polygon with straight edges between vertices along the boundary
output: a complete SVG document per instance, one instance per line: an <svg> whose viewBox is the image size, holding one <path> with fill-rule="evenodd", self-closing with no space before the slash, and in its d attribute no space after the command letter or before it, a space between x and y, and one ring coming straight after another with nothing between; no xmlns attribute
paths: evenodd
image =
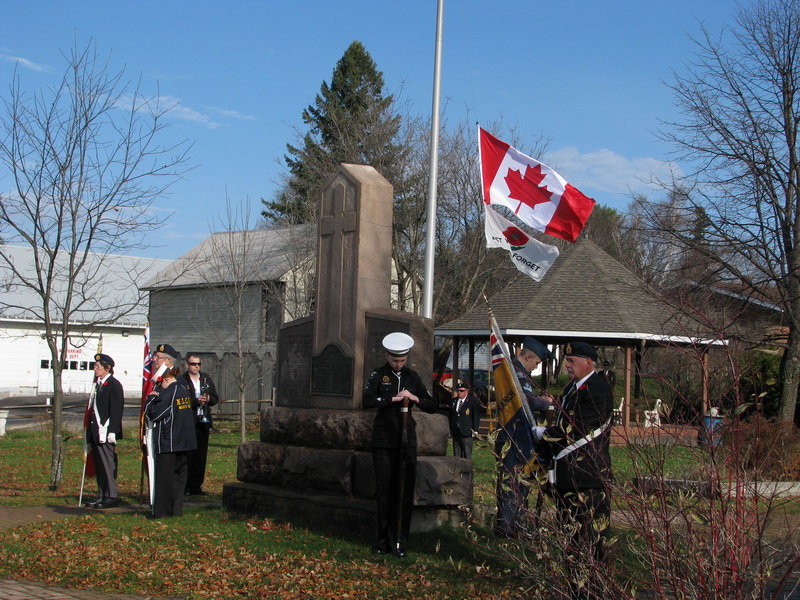
<svg viewBox="0 0 800 600"><path fill-rule="evenodd" d="M230 510L370 533L375 411L361 408L362 390L393 331L414 338L409 366L431 385L433 323L390 307L392 186L383 176L340 165L319 211L316 309L281 327L275 405L261 411L260 441L239 446L238 481L225 484L222 500ZM413 415L411 526L423 531L458 520L457 507L472 502L472 462L446 455L446 416Z"/></svg>

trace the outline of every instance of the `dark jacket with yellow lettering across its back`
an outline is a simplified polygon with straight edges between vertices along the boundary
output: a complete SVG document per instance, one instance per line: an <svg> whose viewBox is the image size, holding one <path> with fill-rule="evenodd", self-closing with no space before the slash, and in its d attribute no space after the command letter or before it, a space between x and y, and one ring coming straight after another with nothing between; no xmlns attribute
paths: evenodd
<svg viewBox="0 0 800 600"><path fill-rule="evenodd" d="M145 415L155 423L157 454L197 449L192 401L182 382L173 381L166 388L155 388L148 396Z"/></svg>

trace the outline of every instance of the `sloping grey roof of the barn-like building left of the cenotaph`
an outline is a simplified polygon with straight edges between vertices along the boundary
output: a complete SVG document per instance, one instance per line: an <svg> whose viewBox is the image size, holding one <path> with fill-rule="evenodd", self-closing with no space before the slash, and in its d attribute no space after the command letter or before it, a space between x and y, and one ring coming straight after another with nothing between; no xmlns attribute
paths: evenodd
<svg viewBox="0 0 800 600"><path fill-rule="evenodd" d="M143 290L193 288L239 281L278 281L313 252L312 229L253 229L211 234L146 280Z"/></svg>

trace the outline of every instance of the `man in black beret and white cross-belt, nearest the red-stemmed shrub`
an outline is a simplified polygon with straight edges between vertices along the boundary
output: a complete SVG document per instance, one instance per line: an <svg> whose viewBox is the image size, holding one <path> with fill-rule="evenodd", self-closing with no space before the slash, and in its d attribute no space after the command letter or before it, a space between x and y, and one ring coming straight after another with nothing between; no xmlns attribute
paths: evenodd
<svg viewBox="0 0 800 600"><path fill-rule="evenodd" d="M536 427L537 449L552 457L553 498L566 540L565 560L574 598L602 597L611 519L611 388L595 370L597 352L585 342L564 348L571 379L555 422Z"/></svg>

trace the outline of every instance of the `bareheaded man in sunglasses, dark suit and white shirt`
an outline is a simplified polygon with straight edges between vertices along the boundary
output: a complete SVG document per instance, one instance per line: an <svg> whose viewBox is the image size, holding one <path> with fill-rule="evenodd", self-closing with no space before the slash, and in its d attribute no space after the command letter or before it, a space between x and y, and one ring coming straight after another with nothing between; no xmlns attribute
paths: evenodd
<svg viewBox="0 0 800 600"><path fill-rule="evenodd" d="M199 354L189 352L184 364L186 372L179 377L179 380L186 386L192 399L194 432L197 436L197 450L189 453L186 495L208 496L208 492L203 490L203 482L206 478L206 462L208 460L208 434L213 426L209 409L219 402L219 395L211 376L200 370Z"/></svg>

